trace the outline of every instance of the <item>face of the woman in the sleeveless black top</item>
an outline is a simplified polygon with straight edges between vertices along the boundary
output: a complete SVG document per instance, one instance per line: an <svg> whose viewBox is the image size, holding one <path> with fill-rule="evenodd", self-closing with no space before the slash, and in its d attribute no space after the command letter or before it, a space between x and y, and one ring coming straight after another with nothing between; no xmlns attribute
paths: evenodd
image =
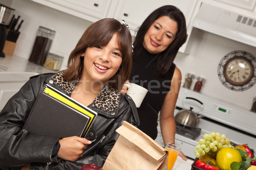
<svg viewBox="0 0 256 170"><path fill-rule="evenodd" d="M177 23L169 17L163 16L158 18L148 28L144 36L144 48L152 54L166 50L174 40L177 29Z"/></svg>

